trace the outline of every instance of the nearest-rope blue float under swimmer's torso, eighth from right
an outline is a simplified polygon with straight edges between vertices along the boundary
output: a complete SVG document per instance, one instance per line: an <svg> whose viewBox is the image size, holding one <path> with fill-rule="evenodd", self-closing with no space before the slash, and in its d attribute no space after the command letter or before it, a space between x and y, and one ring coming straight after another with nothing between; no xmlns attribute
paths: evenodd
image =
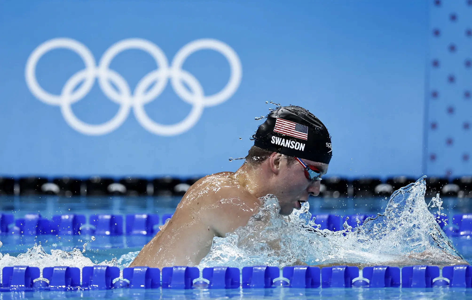
<svg viewBox="0 0 472 300"><path fill-rule="evenodd" d="M200 270L196 267L164 267L162 268L162 288L191 289L194 279L199 276Z"/></svg>

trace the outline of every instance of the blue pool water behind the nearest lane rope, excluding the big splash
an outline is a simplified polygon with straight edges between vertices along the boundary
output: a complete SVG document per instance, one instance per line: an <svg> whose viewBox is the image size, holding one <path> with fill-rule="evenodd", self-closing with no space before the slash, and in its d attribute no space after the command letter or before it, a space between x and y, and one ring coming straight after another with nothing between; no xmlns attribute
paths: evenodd
<svg viewBox="0 0 472 300"><path fill-rule="evenodd" d="M59 196L0 196L0 211L14 214L15 218L21 218L27 213L40 213L42 217L51 218L57 214L139 214L157 213L160 216L172 214L180 198L178 197L59 197ZM428 201L428 200L427 200ZM346 198L317 198L309 200L312 213L338 214L341 217L356 213L375 215L383 212L388 199L366 198L362 200ZM468 198L445 198L443 199L444 212L447 215L468 213L472 211L472 199ZM431 209L431 212L436 212ZM17 256L25 253L35 243L41 244L47 253L51 249L72 251L74 248L83 249L87 243L84 256L92 262L110 261L119 259L121 255L128 252L139 251L144 244L149 242L152 236L145 235L122 235L122 236L95 236L92 241L91 235L0 235L3 245L0 253L9 253ZM449 237L456 249L463 254L464 258L472 262L471 236Z"/></svg>

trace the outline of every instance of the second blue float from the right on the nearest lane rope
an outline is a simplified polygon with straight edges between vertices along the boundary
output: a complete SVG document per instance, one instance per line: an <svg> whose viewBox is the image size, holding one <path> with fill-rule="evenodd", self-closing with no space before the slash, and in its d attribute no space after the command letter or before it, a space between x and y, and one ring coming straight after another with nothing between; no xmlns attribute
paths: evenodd
<svg viewBox="0 0 472 300"><path fill-rule="evenodd" d="M433 279L439 277L438 266L410 266L402 268L402 287L432 287Z"/></svg>

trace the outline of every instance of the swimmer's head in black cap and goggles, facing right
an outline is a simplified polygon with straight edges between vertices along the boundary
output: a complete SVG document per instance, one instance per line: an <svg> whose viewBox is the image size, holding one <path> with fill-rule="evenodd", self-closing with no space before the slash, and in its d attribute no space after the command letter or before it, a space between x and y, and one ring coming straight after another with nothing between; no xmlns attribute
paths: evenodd
<svg viewBox="0 0 472 300"><path fill-rule="evenodd" d="M280 107L267 116L253 138L246 163L268 174L266 184L277 196L281 214L300 209L309 195L319 195L320 180L307 177L302 166L313 167L319 177L328 170L331 138L317 117L299 106Z"/></svg>

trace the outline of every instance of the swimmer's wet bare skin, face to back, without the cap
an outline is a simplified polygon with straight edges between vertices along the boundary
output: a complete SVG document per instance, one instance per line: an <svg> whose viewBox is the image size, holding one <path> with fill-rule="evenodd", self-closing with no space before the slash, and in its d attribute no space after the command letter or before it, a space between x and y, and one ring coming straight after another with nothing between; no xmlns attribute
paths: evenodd
<svg viewBox="0 0 472 300"><path fill-rule="evenodd" d="M305 160L322 174L328 165ZM167 226L147 243L130 267L197 265L210 251L213 237L224 237L247 224L259 211L259 197L277 196L280 213L300 208L309 195L320 193L320 181L308 180L298 162L273 153L257 167L243 164L236 172L221 172L198 180L185 193Z"/></svg>

